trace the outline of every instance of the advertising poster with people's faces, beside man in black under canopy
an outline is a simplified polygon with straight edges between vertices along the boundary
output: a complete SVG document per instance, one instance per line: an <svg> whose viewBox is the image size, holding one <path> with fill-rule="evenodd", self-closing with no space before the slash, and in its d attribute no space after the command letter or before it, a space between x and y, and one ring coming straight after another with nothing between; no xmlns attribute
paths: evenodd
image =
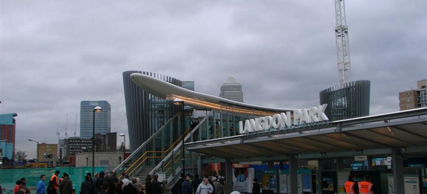
<svg viewBox="0 0 427 194"><path fill-rule="evenodd" d="M252 193L254 168L233 168L233 191Z"/></svg>

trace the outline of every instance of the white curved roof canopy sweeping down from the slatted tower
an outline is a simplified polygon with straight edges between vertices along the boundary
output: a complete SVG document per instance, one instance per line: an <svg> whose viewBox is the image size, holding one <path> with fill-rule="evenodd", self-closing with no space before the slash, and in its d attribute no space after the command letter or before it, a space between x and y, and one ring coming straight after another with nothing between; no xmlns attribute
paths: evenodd
<svg viewBox="0 0 427 194"><path fill-rule="evenodd" d="M273 107L265 107L265 106L258 106L253 104L236 102L236 101L229 100L222 97L215 97L212 95L187 90L182 87L171 84L167 81L163 81L163 80L160 80L148 75L140 74L140 73L133 73L130 75L130 77L131 77L131 80L135 84L137 84L137 86L139 86L141 89L147 91L148 93L151 93L156 97L161 97L168 100L174 100L175 98L180 98L185 103L192 104L198 107L204 107L207 109L216 109L216 110L224 110L224 111L231 111L231 112L242 112L242 110L245 110L244 111L245 113L256 112L255 114L264 114L265 112L287 112L287 111L293 111L293 110L300 110L300 109L287 109L287 108L273 108ZM220 102L225 102L230 105L239 106L239 108L233 107L233 106L225 106L224 103L221 104ZM257 109L257 110L252 110L252 109Z"/></svg>

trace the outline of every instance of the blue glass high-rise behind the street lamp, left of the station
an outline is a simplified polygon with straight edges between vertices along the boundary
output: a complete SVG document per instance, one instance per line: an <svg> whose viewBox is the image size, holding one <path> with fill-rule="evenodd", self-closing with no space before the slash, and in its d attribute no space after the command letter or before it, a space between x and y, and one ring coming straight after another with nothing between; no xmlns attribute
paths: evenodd
<svg viewBox="0 0 427 194"><path fill-rule="evenodd" d="M111 132L111 105L105 100L80 102L80 138L91 139L93 129L93 109L102 108L95 113L95 133L105 135Z"/></svg>

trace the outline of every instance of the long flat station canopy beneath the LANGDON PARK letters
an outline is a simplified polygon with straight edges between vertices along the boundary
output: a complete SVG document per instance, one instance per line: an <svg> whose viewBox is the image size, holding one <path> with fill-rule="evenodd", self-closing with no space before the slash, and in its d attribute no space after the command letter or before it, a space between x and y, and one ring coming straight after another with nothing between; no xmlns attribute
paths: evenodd
<svg viewBox="0 0 427 194"><path fill-rule="evenodd" d="M355 155L427 155L427 108L320 125L187 143L186 149L232 162L319 159Z"/></svg>

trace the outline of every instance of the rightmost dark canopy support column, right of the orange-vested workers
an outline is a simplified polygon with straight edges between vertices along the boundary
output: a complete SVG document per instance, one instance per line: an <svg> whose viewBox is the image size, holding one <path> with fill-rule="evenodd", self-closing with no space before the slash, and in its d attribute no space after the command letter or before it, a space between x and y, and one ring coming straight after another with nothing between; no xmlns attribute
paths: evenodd
<svg viewBox="0 0 427 194"><path fill-rule="evenodd" d="M403 181L403 158L399 148L392 148L392 168L395 179L395 194L405 193Z"/></svg>

